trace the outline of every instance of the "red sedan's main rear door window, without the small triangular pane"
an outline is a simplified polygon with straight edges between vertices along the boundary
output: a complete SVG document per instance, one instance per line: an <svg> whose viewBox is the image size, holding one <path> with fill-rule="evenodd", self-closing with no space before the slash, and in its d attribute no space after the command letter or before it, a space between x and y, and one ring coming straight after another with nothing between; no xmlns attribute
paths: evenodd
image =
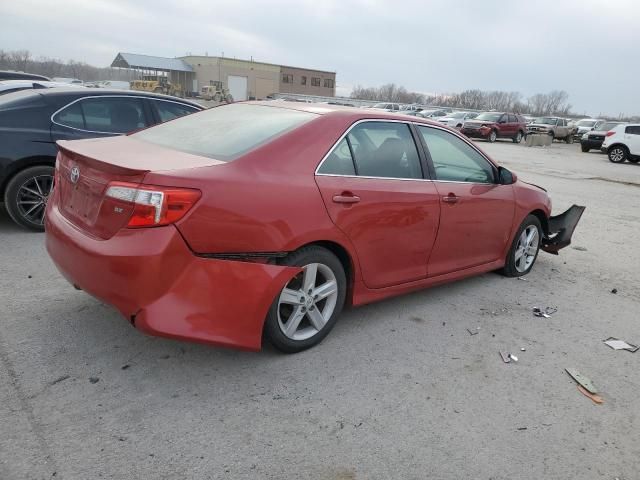
<svg viewBox="0 0 640 480"><path fill-rule="evenodd" d="M409 126L395 122L365 122L347 135L358 175L422 178L420 158Z"/></svg>

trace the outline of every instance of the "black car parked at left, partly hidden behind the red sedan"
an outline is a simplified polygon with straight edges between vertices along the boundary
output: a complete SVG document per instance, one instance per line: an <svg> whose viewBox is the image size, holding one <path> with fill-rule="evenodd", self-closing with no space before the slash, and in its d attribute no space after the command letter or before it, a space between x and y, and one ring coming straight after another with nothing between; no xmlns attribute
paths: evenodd
<svg viewBox="0 0 640 480"><path fill-rule="evenodd" d="M0 97L0 195L11 218L43 230L57 140L121 135L204 110L146 92L89 88L23 90Z"/></svg>

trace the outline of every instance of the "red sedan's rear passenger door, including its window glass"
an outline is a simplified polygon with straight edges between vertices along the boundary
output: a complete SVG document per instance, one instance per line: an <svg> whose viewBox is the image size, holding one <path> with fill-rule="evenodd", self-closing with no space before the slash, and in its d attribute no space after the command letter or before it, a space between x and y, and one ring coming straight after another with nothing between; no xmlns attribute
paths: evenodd
<svg viewBox="0 0 640 480"><path fill-rule="evenodd" d="M440 205L407 123L356 124L318 167L316 183L356 249L367 287L426 277Z"/></svg>

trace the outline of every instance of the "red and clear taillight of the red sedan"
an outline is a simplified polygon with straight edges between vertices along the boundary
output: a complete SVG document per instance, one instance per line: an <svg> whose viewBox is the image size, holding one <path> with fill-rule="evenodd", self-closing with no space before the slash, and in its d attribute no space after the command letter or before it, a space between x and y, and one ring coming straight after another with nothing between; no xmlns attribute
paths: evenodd
<svg viewBox="0 0 640 480"><path fill-rule="evenodd" d="M111 182L105 195L132 203L133 213L127 227L139 228L177 222L198 201L201 193L190 188Z"/></svg>

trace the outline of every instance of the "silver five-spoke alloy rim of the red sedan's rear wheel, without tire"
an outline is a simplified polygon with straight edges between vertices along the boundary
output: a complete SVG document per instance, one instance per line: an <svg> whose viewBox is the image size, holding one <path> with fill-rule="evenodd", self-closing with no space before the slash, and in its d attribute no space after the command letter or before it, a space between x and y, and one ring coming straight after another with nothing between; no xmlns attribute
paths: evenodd
<svg viewBox="0 0 640 480"><path fill-rule="evenodd" d="M292 340L306 340L331 319L338 300L338 281L328 266L311 263L292 278L278 298L278 325Z"/></svg>

